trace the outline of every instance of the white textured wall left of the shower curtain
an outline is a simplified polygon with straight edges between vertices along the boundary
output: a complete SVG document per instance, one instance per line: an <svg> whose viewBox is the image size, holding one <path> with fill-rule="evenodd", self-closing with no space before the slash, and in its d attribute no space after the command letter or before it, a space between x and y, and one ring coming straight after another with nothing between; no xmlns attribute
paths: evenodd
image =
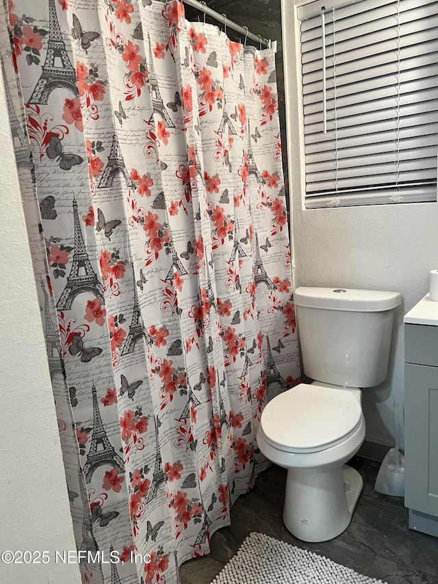
<svg viewBox="0 0 438 584"><path fill-rule="evenodd" d="M0 68L0 553L75 550L40 307ZM80 583L75 563L5 565L0 581Z"/></svg>

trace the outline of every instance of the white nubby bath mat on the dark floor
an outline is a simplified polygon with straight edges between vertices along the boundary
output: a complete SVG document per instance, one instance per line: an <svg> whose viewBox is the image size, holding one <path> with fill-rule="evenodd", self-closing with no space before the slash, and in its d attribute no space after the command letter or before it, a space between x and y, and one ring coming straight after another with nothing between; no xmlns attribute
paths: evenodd
<svg viewBox="0 0 438 584"><path fill-rule="evenodd" d="M211 584L386 584L330 559L250 533Z"/></svg>

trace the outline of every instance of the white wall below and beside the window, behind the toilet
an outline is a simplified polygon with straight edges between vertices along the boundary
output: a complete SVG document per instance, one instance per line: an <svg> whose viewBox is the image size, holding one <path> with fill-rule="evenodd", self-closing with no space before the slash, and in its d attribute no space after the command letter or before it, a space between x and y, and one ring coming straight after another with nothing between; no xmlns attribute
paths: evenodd
<svg viewBox="0 0 438 584"><path fill-rule="evenodd" d="M281 1L292 205L294 283L396 290L396 314L387 380L363 390L366 437L394 445L394 401L403 399L403 315L428 292L428 272L438 268L438 205L375 205L304 210L300 151L300 85L293 0Z"/></svg>

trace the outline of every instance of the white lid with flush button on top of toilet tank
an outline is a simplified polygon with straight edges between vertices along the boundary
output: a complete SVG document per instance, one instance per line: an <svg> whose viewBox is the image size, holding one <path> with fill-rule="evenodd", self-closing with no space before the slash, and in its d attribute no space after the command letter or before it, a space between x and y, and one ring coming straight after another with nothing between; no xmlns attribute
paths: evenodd
<svg viewBox="0 0 438 584"><path fill-rule="evenodd" d="M335 286L333 288L300 286L294 292L294 303L297 306L349 312L383 312L395 308L401 301L402 297L398 292Z"/></svg>

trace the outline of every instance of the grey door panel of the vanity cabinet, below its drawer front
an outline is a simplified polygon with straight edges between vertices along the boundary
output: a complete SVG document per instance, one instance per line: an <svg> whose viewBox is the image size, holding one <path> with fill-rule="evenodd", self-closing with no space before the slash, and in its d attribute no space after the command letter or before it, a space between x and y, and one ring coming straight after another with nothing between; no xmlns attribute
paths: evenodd
<svg viewBox="0 0 438 584"><path fill-rule="evenodd" d="M438 516L438 367L404 366L404 505Z"/></svg>

